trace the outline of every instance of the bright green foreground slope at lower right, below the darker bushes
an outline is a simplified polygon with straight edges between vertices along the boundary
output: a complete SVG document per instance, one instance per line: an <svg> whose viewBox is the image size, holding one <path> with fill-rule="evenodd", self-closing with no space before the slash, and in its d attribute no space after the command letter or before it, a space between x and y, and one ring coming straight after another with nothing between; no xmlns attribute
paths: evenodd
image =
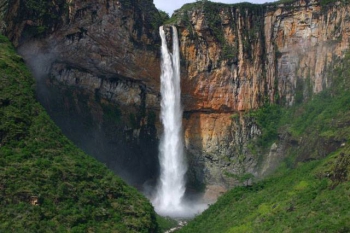
<svg viewBox="0 0 350 233"><path fill-rule="evenodd" d="M345 157L337 152L296 169L283 166L265 181L235 188L180 232L348 232L350 182L334 186L327 178L339 171L339 158ZM349 160L342 165L350 170Z"/></svg>

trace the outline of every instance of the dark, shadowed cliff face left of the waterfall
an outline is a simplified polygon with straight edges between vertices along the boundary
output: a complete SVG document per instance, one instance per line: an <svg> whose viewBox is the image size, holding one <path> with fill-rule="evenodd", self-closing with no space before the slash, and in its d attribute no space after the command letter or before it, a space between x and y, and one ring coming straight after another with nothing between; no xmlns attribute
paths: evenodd
<svg viewBox="0 0 350 233"><path fill-rule="evenodd" d="M4 3L2 31L63 132L130 182L154 179L162 16L153 2Z"/></svg>

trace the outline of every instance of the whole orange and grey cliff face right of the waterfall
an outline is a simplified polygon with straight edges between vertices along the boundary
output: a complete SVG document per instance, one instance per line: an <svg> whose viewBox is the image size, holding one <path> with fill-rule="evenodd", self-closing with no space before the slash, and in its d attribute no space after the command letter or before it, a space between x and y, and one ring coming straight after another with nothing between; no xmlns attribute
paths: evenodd
<svg viewBox="0 0 350 233"><path fill-rule="evenodd" d="M274 144L258 163L249 144L261 132L243 116L266 101L293 105L329 87L327 69L349 47L349 10L342 2L301 0L195 3L176 12L186 144L203 168L199 179L230 186L225 172L261 177L283 159L287 142Z"/></svg>

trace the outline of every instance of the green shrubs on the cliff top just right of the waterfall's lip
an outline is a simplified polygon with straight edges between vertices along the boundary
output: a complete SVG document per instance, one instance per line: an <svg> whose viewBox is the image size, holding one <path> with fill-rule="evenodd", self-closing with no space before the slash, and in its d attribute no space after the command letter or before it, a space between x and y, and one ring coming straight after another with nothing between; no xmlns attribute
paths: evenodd
<svg viewBox="0 0 350 233"><path fill-rule="evenodd" d="M195 39L198 37L190 21L192 12L201 12L204 17L203 24L207 26L206 30L210 33L212 38L221 46L220 59L227 60L229 63L237 62L238 57L238 42L228 42L224 35L224 27L230 26L235 29L236 25L224 25L223 13L225 17L229 17L231 22L236 22L239 15L246 16L242 23L244 30L242 30L243 50L246 56L251 58L252 45L261 39L263 33L263 15L264 9L262 5L251 4L247 2L238 4L223 4L211 1L196 1L194 3L185 4L180 10L165 22L165 24L179 24L185 26L189 31L189 38ZM239 13L238 13L239 12Z"/></svg>

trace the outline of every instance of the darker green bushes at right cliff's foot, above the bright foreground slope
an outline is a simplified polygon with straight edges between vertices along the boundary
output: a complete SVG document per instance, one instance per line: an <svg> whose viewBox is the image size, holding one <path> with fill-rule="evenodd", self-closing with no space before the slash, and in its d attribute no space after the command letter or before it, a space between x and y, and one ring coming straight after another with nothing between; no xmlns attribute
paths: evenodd
<svg viewBox="0 0 350 233"><path fill-rule="evenodd" d="M248 112L247 115L255 119L262 130L262 136L258 139L258 145L269 147L278 140L279 130L286 129L293 137L307 134L310 140L319 139L320 135L326 140L331 137L339 139L337 132L342 135L350 133L346 129L339 128L339 122L346 122L350 109L350 53L328 74L332 78L331 88L312 96L311 101L302 103L310 98L304 96L303 90L311 92L310 78L297 81L295 94L296 105L290 108L278 104L265 103L258 110ZM343 132L344 131L344 132ZM346 132L345 132L346 131Z"/></svg>

